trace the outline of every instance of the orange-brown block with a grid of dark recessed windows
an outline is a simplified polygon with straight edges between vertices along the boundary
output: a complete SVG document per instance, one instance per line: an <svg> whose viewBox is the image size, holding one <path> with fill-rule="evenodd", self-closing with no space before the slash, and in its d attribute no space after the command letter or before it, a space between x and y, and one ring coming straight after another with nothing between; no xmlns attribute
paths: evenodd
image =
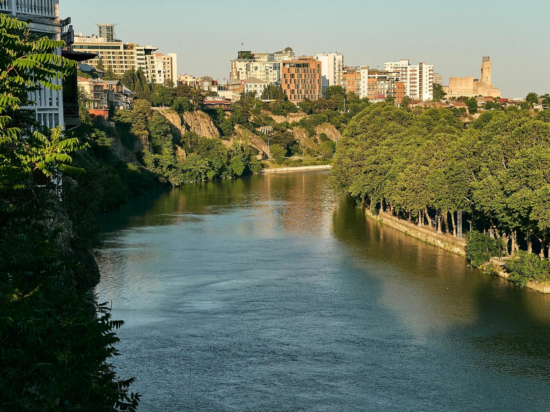
<svg viewBox="0 0 550 412"><path fill-rule="evenodd" d="M296 106L309 99L322 97L321 62L313 56L300 56L295 60L282 62L283 90L288 100Z"/></svg>

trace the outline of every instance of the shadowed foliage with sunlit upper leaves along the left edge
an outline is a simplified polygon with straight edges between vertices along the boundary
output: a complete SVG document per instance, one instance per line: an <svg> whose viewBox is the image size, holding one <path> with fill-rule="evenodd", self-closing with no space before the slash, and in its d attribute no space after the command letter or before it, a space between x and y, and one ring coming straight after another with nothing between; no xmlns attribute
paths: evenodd
<svg viewBox="0 0 550 412"><path fill-rule="evenodd" d="M0 409L134 411L133 380L110 363L123 322L86 298L89 237L69 220L74 203L59 201L59 172L82 174L73 156L86 146L20 109L35 104L27 92L38 85L60 90L52 79L75 73L76 62L58 56L63 42L5 14L0 44Z"/></svg>

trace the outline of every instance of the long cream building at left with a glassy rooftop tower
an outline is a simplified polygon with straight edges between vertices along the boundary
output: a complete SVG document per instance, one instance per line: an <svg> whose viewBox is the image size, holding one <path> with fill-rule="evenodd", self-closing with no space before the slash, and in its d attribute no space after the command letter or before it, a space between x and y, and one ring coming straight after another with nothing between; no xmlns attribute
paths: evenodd
<svg viewBox="0 0 550 412"><path fill-rule="evenodd" d="M97 53L97 57L88 64L96 67L101 57L103 67L113 68L114 74L122 76L130 69L141 69L147 81L151 84L163 84L170 79L177 83L177 55L168 53L166 56L156 53L158 47L137 43L124 43L116 38L114 24L98 24L99 35L75 36L73 49ZM105 37L103 37L105 36Z"/></svg>

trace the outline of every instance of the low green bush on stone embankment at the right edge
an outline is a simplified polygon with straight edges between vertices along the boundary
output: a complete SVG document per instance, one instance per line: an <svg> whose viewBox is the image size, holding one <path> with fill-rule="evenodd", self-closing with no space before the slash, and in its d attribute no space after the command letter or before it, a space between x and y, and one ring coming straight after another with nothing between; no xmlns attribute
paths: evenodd
<svg viewBox="0 0 550 412"><path fill-rule="evenodd" d="M504 268L510 272L508 279L519 287L524 287L528 282L550 280L550 261L524 250L517 251Z"/></svg>

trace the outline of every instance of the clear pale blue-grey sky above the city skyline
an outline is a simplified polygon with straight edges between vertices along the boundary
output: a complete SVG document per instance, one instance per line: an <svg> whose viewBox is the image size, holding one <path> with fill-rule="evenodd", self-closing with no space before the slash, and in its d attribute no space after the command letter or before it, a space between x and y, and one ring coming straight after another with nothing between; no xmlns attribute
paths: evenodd
<svg viewBox="0 0 550 412"><path fill-rule="evenodd" d="M116 23L124 42L178 54L178 73L228 78L239 50L344 54L383 68L409 59L449 76L480 76L490 56L503 97L550 93L550 0L59 0L74 31ZM241 43L243 45L241 46Z"/></svg>

